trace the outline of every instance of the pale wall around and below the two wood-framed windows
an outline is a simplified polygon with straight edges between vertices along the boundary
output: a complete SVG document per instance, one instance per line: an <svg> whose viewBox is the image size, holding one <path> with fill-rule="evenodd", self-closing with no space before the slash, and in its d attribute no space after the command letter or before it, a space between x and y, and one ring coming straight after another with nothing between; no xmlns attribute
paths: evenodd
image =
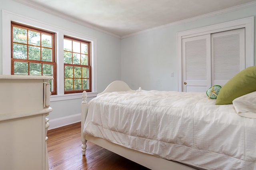
<svg viewBox="0 0 256 170"><path fill-rule="evenodd" d="M120 79L120 43L121 40L114 36L109 36L102 32L86 28L79 24L74 24L68 20L58 18L40 10L30 8L12 0L0 0L0 73L2 73L2 10L28 17L32 20L60 27L78 34L93 37L96 39L96 58L97 58L97 91L103 91L106 86L114 80ZM89 98L88 101L92 99ZM52 101L50 103L53 111L48 118L50 120L59 119L81 113L80 103L82 99L70 99L62 101Z"/></svg>

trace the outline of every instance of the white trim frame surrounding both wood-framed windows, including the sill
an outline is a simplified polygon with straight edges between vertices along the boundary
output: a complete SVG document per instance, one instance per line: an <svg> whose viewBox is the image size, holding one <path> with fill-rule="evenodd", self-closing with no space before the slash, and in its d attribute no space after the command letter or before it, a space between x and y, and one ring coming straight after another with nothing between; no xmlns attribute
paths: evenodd
<svg viewBox="0 0 256 170"><path fill-rule="evenodd" d="M97 92L97 72L96 72L96 38L86 36L74 31L52 26L50 24L24 17L19 14L2 10L2 65L0 74L11 75L11 21L26 24L36 28L49 30L56 33L56 75L57 75L57 95L52 95L50 101L60 101L68 99L82 98L82 93L64 94L64 35L79 38L91 42L91 66L92 66L92 92L88 92L88 97L96 97ZM1 68L2 66L2 68Z"/></svg>

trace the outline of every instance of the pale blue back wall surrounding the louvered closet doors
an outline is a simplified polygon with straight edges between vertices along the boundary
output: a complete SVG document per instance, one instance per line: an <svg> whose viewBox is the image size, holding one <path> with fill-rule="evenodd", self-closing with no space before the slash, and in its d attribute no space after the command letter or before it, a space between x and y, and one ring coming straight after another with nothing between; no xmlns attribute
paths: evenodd
<svg viewBox="0 0 256 170"><path fill-rule="evenodd" d="M131 89L177 91L177 32L249 16L256 16L256 6L124 38L121 41L121 79ZM254 31L254 41L255 35ZM174 72L174 77L171 77L171 72Z"/></svg>

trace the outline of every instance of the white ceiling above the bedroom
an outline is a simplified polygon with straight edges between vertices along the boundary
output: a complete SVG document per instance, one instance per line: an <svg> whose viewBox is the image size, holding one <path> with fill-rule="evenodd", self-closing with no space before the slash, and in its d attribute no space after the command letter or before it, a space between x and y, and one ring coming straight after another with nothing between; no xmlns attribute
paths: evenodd
<svg viewBox="0 0 256 170"><path fill-rule="evenodd" d="M188 18L256 2L256 0L16 1L120 38Z"/></svg>

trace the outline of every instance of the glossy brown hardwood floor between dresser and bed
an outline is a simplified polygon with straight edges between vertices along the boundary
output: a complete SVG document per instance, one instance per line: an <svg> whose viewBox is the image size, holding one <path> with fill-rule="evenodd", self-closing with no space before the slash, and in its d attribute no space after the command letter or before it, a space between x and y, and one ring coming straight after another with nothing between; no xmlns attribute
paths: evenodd
<svg viewBox="0 0 256 170"><path fill-rule="evenodd" d="M48 130L47 136L50 170L148 170L92 142L82 155L81 123Z"/></svg>

